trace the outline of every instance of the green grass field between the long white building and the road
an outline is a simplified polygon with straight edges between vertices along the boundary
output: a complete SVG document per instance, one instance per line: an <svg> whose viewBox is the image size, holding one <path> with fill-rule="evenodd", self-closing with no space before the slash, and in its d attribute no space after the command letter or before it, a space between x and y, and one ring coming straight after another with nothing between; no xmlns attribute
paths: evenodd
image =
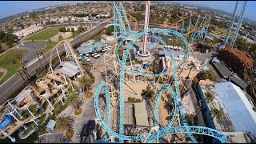
<svg viewBox="0 0 256 144"><path fill-rule="evenodd" d="M52 38L54 35L58 34L59 27L53 27L50 29L42 30L38 34L34 34L25 40L47 40Z"/></svg>

